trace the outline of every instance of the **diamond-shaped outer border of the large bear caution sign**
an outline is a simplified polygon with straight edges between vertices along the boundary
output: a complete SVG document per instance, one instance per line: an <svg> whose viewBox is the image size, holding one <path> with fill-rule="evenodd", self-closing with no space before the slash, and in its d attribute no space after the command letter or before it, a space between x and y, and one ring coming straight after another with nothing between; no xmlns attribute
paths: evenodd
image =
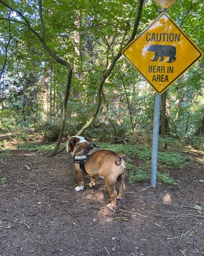
<svg viewBox="0 0 204 256"><path fill-rule="evenodd" d="M154 85L147 79L147 77L145 75L142 74L142 72L135 66L135 64L128 58L128 56L125 55L125 51L126 49L128 49L134 42L136 42L152 25L154 25L154 23L156 23L163 15L165 15L170 21L171 23L183 34L183 36L192 44L192 46L197 49L197 51L200 53L200 55L198 56L198 58L196 58L192 63L190 63L188 65L187 68L185 68L180 74L178 74L164 89L162 89L161 91L158 91ZM203 53L201 52L201 50L198 48L197 45L195 45L193 43L193 41L188 37L188 35L174 22L174 20L167 14L167 13L162 13L160 14L155 20L153 20L153 22L145 29L143 30L131 43L129 43L123 50L122 50L122 55L125 57L125 59L127 59L131 65L145 78L145 80L154 88L154 90L158 93L158 94L162 94L164 93L165 90L167 90L174 82L175 80L179 79L180 76L183 75L183 73L185 73L191 66L194 65L195 62L197 62L202 56Z"/></svg>

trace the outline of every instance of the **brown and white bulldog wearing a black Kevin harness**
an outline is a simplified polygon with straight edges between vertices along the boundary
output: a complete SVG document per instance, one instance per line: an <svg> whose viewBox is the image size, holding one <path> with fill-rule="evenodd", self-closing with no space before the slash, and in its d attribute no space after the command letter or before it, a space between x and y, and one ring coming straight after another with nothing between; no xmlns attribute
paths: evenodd
<svg viewBox="0 0 204 256"><path fill-rule="evenodd" d="M91 176L90 187L96 186L96 177L103 177L106 188L111 196L111 203L107 207L114 209L116 199L123 199L125 191L125 163L122 157L116 152L92 147L91 143L81 136L72 136L68 140L67 152L71 152L73 156L74 171L79 181L79 185L75 190L80 191L84 189L84 175L88 174ZM91 154L89 158L87 154ZM80 161L83 162L83 160L85 162L81 165ZM118 182L118 195L115 189L116 182Z"/></svg>

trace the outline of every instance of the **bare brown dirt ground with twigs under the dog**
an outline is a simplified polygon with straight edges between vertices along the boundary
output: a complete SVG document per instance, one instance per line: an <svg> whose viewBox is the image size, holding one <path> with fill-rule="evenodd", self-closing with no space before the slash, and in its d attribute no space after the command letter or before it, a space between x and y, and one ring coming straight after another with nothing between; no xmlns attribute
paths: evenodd
<svg viewBox="0 0 204 256"><path fill-rule="evenodd" d="M71 155L43 156L23 150L0 156L0 256L204 255L202 156L171 170L177 186L130 185L126 175L115 211L106 208L102 179L90 188L85 177L84 190L74 190Z"/></svg>

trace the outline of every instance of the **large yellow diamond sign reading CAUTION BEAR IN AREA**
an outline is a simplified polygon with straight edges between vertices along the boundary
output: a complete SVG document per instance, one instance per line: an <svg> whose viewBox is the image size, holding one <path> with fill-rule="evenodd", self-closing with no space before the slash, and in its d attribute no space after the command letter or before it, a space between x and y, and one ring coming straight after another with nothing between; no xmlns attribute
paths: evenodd
<svg viewBox="0 0 204 256"><path fill-rule="evenodd" d="M203 55L166 13L160 14L122 54L158 94Z"/></svg>

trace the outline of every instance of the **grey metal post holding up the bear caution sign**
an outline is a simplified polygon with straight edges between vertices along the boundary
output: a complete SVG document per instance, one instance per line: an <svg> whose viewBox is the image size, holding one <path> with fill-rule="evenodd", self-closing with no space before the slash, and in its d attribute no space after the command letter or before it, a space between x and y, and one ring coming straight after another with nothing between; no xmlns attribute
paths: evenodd
<svg viewBox="0 0 204 256"><path fill-rule="evenodd" d="M160 102L161 102L161 95L155 93L154 119L153 119L153 137L152 137L151 177L150 177L150 185L152 187L156 187L156 169L157 169L157 152L158 152L158 136L159 136Z"/></svg>

